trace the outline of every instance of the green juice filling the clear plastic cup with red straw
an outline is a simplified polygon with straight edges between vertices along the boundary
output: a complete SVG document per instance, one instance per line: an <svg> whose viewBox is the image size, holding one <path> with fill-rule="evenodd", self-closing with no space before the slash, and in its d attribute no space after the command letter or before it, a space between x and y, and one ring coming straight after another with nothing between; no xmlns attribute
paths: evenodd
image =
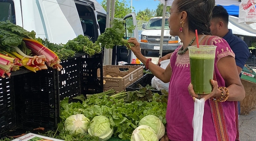
<svg viewBox="0 0 256 141"><path fill-rule="evenodd" d="M213 79L214 59L213 55L191 55L190 73L191 83L197 94L209 94L212 91L210 80Z"/></svg>

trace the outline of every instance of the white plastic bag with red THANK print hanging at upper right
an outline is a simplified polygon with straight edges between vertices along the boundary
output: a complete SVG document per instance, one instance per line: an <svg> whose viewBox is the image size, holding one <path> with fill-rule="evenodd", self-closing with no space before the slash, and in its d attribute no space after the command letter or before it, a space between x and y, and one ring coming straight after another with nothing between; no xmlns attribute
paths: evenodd
<svg viewBox="0 0 256 141"><path fill-rule="evenodd" d="M239 5L238 23L251 24L256 22L256 0L242 0Z"/></svg>

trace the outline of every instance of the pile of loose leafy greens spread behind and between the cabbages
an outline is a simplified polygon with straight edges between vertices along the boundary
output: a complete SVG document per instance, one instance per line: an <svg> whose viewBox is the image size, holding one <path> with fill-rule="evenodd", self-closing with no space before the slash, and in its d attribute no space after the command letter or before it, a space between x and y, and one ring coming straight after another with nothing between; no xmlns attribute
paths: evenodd
<svg viewBox="0 0 256 141"><path fill-rule="evenodd" d="M115 94L117 95L117 94ZM134 100L136 96L131 96L130 100ZM96 94L90 98L83 99L81 102L68 102L68 98L61 101L61 123L59 123L59 131L63 130L63 123L68 116L75 114L83 114L92 120L95 116L103 115L110 119L111 125L114 127L114 136L118 136L122 140L130 140L131 134L138 127L140 120L148 115L157 116L163 124L166 123L166 102L160 102L159 94L153 94L153 97L141 96L139 92L134 95L139 97L149 98L124 102L125 98L118 99L115 96L101 95L98 97ZM166 98L166 97L165 97ZM80 96L80 99L82 97ZM156 101L158 99L158 101ZM165 101L165 100L162 100Z"/></svg>

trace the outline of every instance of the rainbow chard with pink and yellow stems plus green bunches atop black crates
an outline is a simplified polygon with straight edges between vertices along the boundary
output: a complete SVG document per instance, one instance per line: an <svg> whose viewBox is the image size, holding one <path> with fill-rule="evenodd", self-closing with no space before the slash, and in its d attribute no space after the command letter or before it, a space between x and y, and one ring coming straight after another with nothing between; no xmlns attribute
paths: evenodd
<svg viewBox="0 0 256 141"><path fill-rule="evenodd" d="M0 76L11 76L11 71L20 66L33 72L52 67L61 70L61 60L73 57L75 53L94 55L101 47L86 36L79 35L66 44L50 43L47 39L35 37L34 31L26 31L19 25L0 22ZM6 74L6 75L5 75Z"/></svg>

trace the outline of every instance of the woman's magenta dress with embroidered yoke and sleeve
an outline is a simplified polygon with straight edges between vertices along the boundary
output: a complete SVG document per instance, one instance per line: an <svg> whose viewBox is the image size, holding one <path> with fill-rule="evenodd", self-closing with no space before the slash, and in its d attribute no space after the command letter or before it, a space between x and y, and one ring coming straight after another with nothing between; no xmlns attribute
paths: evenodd
<svg viewBox="0 0 256 141"><path fill-rule="evenodd" d="M216 45L215 72L219 86L225 86L225 82L217 69L217 62L225 56L235 57L229 44L220 37L213 37L209 44ZM171 141L193 141L192 119L194 114L194 101L189 95L188 86L190 80L189 55L178 55L178 47L170 58L172 76L169 83L169 97L166 112L167 135ZM229 141L236 140L236 111L234 102L222 103ZM222 126L222 125L220 125ZM205 102L202 141L217 141L213 116L209 100Z"/></svg>

